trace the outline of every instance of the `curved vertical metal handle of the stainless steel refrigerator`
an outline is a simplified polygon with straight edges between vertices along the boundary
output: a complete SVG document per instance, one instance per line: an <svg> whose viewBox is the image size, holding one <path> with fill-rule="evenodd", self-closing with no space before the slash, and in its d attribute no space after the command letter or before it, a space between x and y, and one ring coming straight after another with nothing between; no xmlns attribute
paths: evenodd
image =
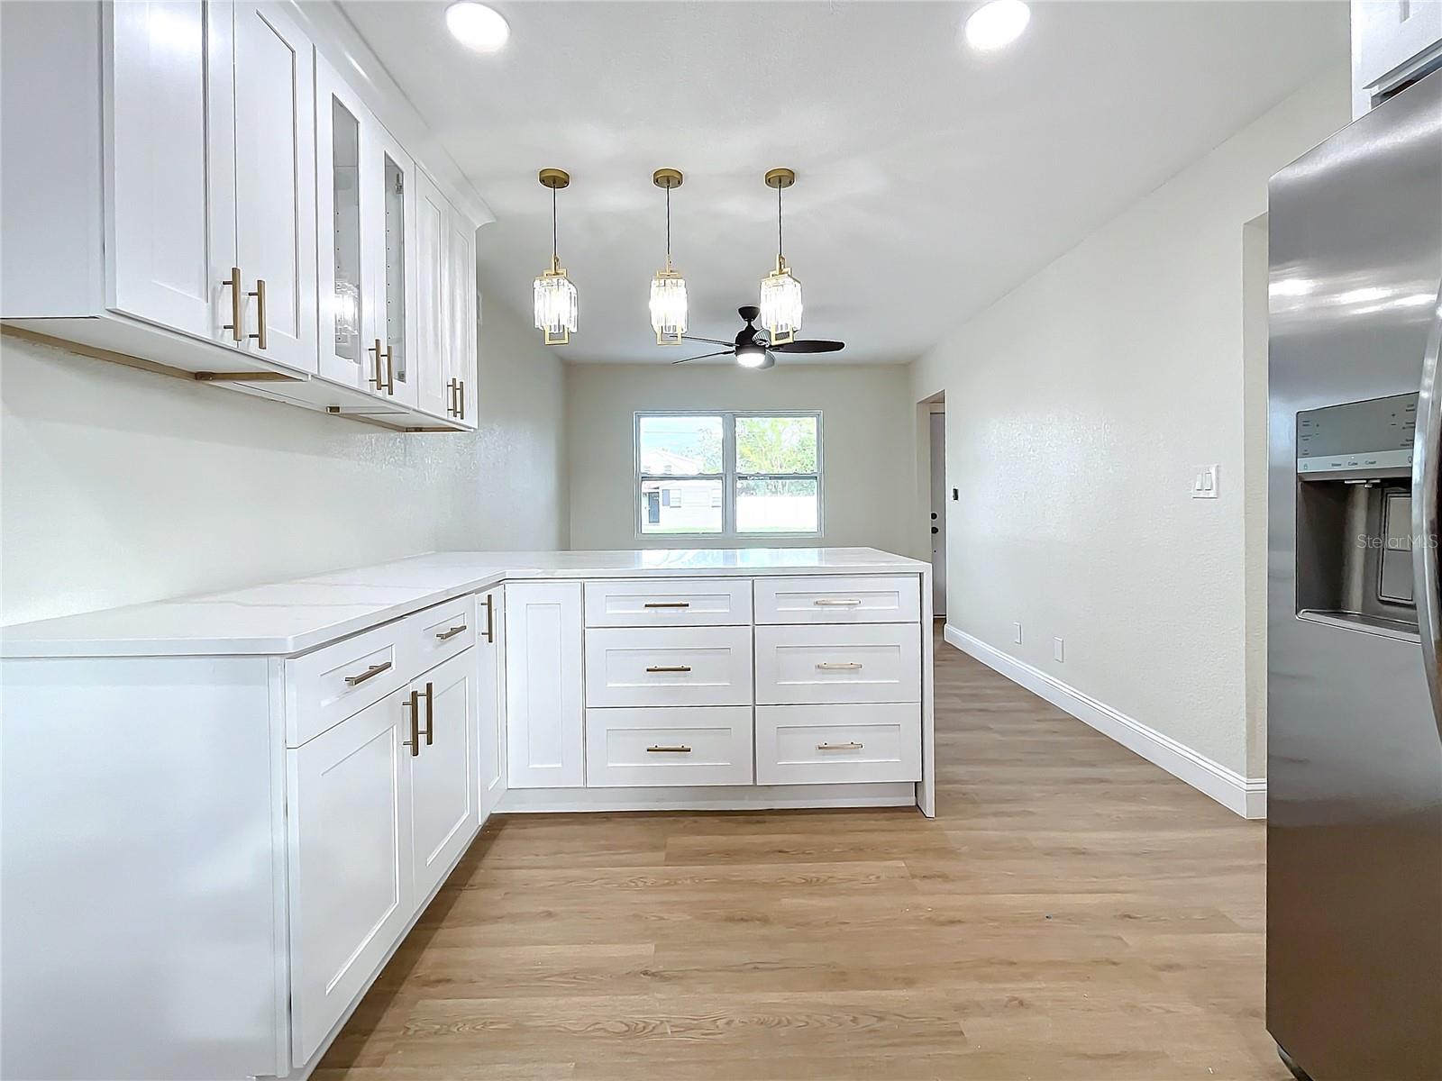
<svg viewBox="0 0 1442 1081"><path fill-rule="evenodd" d="M1442 477L1442 287L1432 311L1428 352L1422 357L1422 393L1417 398L1417 431L1412 448L1412 577L1417 600L1417 633L1422 667L1432 698L1432 719L1442 738L1442 591L1438 579L1438 481Z"/></svg>

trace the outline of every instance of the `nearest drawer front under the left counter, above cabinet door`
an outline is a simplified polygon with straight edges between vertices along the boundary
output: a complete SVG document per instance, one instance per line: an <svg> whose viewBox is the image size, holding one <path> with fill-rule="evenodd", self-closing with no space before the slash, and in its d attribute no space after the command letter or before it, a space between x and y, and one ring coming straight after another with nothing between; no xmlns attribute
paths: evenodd
<svg viewBox="0 0 1442 1081"><path fill-rule="evenodd" d="M300 747L411 682L404 620L283 662L286 744Z"/></svg>

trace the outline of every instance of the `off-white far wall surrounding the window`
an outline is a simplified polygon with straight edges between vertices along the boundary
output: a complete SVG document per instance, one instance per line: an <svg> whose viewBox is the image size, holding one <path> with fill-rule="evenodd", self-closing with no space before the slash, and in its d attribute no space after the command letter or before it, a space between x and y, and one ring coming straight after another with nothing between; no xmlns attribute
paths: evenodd
<svg viewBox="0 0 1442 1081"><path fill-rule="evenodd" d="M823 536L767 546L870 546L911 553L911 399L903 365L570 365L571 548L705 548L734 540L636 538L637 409L820 409ZM906 483L901 483L906 479Z"/></svg>

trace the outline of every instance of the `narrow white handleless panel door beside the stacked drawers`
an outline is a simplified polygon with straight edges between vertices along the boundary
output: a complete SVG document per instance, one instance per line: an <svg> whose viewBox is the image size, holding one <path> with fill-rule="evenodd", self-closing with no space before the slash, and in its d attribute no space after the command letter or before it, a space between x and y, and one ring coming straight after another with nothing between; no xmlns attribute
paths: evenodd
<svg viewBox="0 0 1442 1081"><path fill-rule="evenodd" d="M506 771L512 788L585 783L580 582L506 585Z"/></svg>

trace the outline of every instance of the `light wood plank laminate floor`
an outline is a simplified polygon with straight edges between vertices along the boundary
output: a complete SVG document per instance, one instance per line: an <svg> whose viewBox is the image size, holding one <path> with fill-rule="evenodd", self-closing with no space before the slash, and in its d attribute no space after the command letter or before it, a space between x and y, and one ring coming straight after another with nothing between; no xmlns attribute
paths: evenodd
<svg viewBox="0 0 1442 1081"><path fill-rule="evenodd" d="M937 817L489 824L317 1081L1282 1081L1265 830L937 644Z"/></svg>

